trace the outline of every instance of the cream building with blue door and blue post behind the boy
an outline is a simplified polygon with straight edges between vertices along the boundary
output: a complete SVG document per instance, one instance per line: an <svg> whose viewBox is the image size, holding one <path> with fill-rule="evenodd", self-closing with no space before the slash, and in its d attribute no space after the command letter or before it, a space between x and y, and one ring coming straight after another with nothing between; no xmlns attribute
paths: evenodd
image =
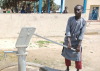
<svg viewBox="0 0 100 71"><path fill-rule="evenodd" d="M87 20L100 20L100 0L65 0L69 13L74 13L77 4L83 6Z"/></svg>

